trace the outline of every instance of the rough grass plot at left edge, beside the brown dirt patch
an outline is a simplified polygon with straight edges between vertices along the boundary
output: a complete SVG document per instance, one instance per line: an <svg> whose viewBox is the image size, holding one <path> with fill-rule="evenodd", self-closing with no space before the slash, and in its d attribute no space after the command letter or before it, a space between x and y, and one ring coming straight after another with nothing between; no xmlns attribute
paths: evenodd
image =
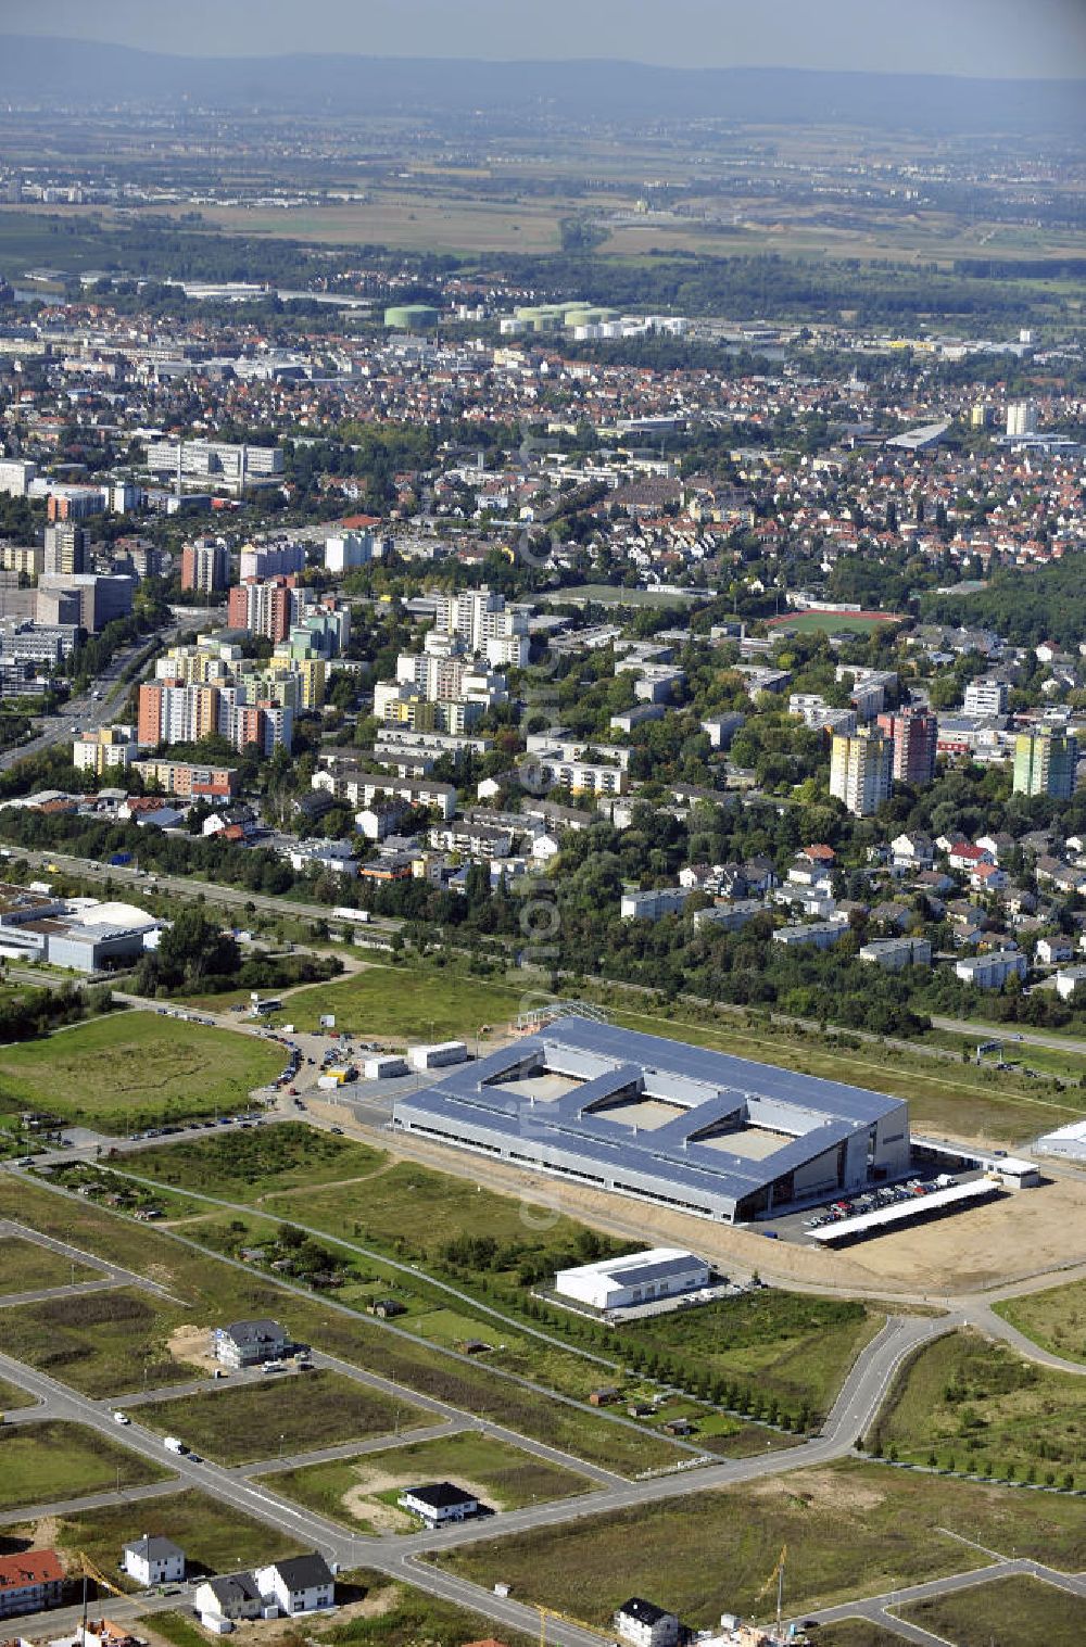
<svg viewBox="0 0 1086 1647"><path fill-rule="evenodd" d="M77 1293L0 1309L0 1349L84 1395L120 1395L193 1375L166 1347L183 1319L135 1288Z"/></svg>

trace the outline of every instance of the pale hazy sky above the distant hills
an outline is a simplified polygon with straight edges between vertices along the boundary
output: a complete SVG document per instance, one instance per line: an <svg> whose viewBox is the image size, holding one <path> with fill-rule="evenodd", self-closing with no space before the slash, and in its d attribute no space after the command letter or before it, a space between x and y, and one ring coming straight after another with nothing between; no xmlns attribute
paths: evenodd
<svg viewBox="0 0 1086 1647"><path fill-rule="evenodd" d="M199 56L1086 76L1086 0L0 0L0 31Z"/></svg>

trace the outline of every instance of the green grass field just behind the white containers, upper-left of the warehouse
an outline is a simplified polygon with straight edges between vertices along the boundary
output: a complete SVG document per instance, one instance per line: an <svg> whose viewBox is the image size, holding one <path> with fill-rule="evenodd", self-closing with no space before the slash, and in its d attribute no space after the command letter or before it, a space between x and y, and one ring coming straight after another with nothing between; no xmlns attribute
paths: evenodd
<svg viewBox="0 0 1086 1647"><path fill-rule="evenodd" d="M471 978L435 967L366 967L331 983L315 983L288 998L290 1021L316 1029L321 1013L336 1028L392 1041L473 1041L481 1024L516 1018L526 987Z"/></svg>

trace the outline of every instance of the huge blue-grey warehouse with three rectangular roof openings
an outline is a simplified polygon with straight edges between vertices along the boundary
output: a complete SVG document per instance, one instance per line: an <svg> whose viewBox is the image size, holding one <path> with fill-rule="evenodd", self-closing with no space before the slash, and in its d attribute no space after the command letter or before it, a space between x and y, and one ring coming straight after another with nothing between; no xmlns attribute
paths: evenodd
<svg viewBox="0 0 1086 1647"><path fill-rule="evenodd" d="M587 1018L397 1099L394 1127L723 1222L903 1176L908 1103Z"/></svg>

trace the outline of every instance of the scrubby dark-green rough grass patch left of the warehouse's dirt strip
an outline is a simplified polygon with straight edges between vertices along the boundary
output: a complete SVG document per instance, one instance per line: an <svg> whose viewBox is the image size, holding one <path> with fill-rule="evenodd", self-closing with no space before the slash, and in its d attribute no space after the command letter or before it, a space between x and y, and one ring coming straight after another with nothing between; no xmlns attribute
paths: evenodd
<svg viewBox="0 0 1086 1647"><path fill-rule="evenodd" d="M282 1189L310 1191L325 1183L366 1178L386 1159L381 1150L315 1131L303 1122L277 1122L142 1150L133 1169L140 1178L204 1196L259 1201Z"/></svg>

